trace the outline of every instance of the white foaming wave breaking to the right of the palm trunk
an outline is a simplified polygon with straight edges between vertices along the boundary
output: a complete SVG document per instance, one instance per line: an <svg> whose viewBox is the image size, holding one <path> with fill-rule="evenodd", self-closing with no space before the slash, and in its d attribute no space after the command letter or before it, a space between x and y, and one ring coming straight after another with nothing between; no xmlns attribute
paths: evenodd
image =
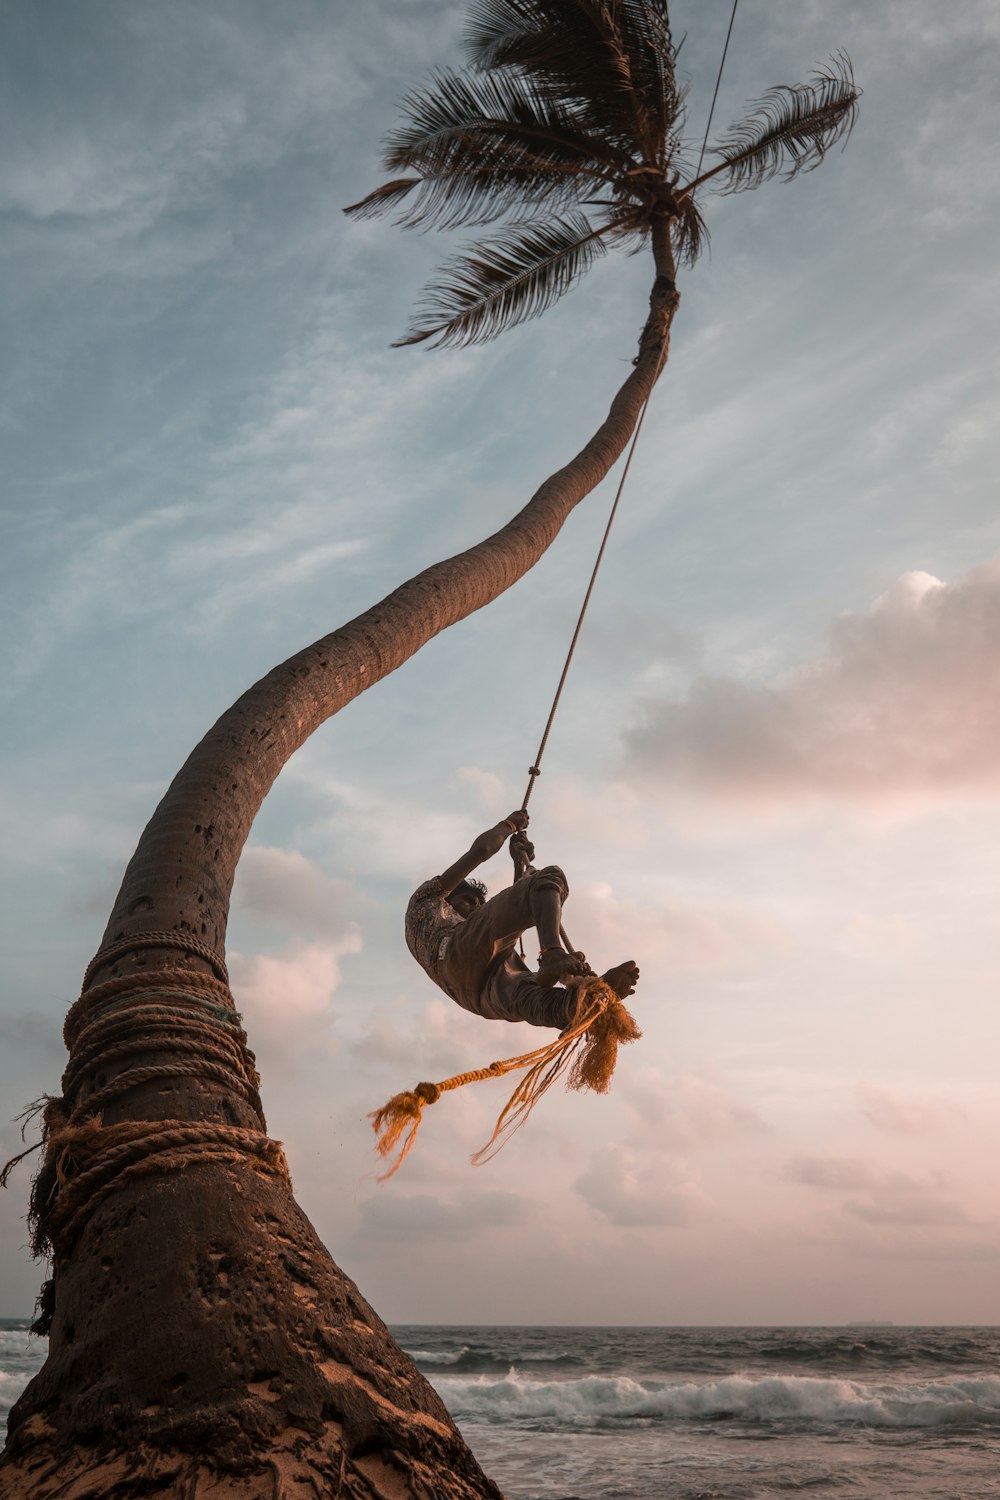
<svg viewBox="0 0 1000 1500"><path fill-rule="evenodd" d="M786 1428L1000 1428L1000 1377L862 1383L819 1376L730 1376L709 1382L640 1382L628 1376L532 1380L441 1376L441 1396L459 1419L558 1422L595 1428L628 1422L723 1422Z"/></svg>

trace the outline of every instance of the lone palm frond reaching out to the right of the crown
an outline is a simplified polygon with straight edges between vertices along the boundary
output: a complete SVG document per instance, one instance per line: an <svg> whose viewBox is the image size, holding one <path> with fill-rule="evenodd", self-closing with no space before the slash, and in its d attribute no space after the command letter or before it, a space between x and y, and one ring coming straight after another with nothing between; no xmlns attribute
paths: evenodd
<svg viewBox="0 0 1000 1500"><path fill-rule="evenodd" d="M771 177L790 182L801 171L813 171L850 134L859 98L850 58L843 52L805 84L769 88L748 117L711 147L721 162L699 182L715 177L721 192L742 192Z"/></svg>

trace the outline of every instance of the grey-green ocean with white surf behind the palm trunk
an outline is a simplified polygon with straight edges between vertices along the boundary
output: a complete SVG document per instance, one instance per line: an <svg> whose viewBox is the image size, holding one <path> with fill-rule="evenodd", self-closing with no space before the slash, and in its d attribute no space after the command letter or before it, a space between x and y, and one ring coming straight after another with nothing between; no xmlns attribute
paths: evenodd
<svg viewBox="0 0 1000 1500"><path fill-rule="evenodd" d="M393 1332L508 1500L1000 1497L1000 1329ZM43 1356L0 1322L0 1418Z"/></svg>

